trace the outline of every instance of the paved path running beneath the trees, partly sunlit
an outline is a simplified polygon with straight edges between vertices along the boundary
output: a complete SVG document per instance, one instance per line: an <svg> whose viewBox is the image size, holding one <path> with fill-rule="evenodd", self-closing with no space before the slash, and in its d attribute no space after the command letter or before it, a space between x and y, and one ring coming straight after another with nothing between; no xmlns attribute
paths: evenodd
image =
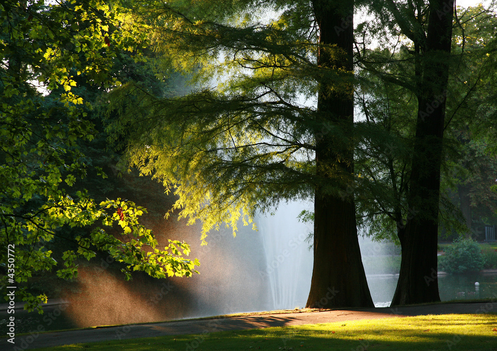
<svg viewBox="0 0 497 351"><path fill-rule="evenodd" d="M497 313L497 302L446 303L397 308L379 307L331 311L300 310L299 312L291 313L254 314L238 317L135 324L129 326L52 332L45 334L33 333L31 335L16 337L15 346L7 343L6 339L0 340L0 350L29 350L106 340L122 340L180 334L202 334L225 330L450 313Z"/></svg>

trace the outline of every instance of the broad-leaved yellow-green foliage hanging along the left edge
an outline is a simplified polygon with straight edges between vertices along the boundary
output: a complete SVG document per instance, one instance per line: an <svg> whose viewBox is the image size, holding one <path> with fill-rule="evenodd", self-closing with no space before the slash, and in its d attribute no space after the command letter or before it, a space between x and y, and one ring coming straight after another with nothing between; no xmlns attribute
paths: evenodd
<svg viewBox="0 0 497 351"><path fill-rule="evenodd" d="M86 92L76 94L76 87L86 82L103 91L118 83L109 74L113 60L139 41L127 30L126 12L98 0L3 1L0 11L0 252L2 265L7 256L15 261L2 267L2 283L18 285L16 297L31 309L47 296L25 289L30 277L55 269L75 278L78 260L97 250L123 263L128 278L133 270L190 276L198 261L184 258L189 246L158 247L138 221L145 209L121 199L95 202L84 189L71 189L88 170L80 144L96 133ZM75 227L86 230L74 235ZM54 238L70 247L59 262L48 248Z"/></svg>

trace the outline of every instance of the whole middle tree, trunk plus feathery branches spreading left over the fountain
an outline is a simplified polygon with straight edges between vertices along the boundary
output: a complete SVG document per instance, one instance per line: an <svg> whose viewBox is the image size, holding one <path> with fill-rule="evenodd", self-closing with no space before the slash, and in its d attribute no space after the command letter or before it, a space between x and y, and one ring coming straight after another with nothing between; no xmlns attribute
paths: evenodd
<svg viewBox="0 0 497 351"><path fill-rule="evenodd" d="M313 306L372 306L354 204L339 197L355 178L352 9L351 1L148 2L140 27L199 88L158 99L128 84L111 94L121 119L109 133L126 136L131 166L174 191L172 210L202 221L202 240L223 223L235 233L282 201L317 199ZM211 87L214 77L222 83Z"/></svg>

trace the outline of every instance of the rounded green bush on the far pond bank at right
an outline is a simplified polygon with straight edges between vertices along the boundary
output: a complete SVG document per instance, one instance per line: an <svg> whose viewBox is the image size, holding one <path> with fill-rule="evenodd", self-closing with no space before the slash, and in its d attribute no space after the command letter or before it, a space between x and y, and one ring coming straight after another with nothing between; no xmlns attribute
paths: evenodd
<svg viewBox="0 0 497 351"><path fill-rule="evenodd" d="M447 273L470 273L483 270L485 258L476 241L458 239L439 258L439 270Z"/></svg>

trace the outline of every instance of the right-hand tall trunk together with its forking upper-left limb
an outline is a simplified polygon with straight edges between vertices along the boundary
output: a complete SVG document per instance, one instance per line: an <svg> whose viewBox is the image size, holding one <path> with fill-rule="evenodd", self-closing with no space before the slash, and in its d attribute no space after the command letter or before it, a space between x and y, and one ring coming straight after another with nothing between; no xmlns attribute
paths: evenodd
<svg viewBox="0 0 497 351"><path fill-rule="evenodd" d="M408 48L412 45L408 52L412 55L414 74L407 81L404 72L391 75L379 71L379 74L387 81L410 88L416 96L418 111L407 192L408 208L417 213L398 231L402 262L392 304L437 301L440 299L436 280L440 167L453 2L433 0L425 6L422 1L389 0L381 4L388 12L378 11L378 16L384 23L391 23L391 32L399 31L407 37ZM425 277L432 275L434 281L427 284Z"/></svg>

